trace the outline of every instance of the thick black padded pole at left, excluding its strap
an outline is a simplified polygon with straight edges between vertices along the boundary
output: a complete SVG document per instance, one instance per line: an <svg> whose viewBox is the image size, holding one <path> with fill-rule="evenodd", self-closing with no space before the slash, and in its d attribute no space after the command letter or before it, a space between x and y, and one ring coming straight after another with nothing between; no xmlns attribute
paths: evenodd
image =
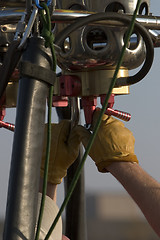
<svg viewBox="0 0 160 240"><path fill-rule="evenodd" d="M23 60L50 69L44 41L31 38ZM33 240L48 85L22 77L9 179L4 240Z"/></svg>

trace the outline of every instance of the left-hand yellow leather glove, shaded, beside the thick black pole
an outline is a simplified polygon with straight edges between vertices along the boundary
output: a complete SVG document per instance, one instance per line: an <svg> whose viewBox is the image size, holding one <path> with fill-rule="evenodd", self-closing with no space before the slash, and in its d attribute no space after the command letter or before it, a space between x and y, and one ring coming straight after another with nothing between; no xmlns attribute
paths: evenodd
<svg viewBox="0 0 160 240"><path fill-rule="evenodd" d="M49 159L48 182L59 184L66 176L67 169L76 160L79 154L80 138L76 131L71 129L71 122L63 120L59 124L52 124L51 150ZM41 177L44 174L46 158L47 125L45 126L44 147L42 153Z"/></svg>

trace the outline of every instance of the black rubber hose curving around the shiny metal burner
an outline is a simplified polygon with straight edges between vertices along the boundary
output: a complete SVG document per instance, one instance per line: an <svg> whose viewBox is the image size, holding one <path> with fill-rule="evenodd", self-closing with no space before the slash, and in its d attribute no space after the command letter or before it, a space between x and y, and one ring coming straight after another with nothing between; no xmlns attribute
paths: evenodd
<svg viewBox="0 0 160 240"><path fill-rule="evenodd" d="M63 44L64 40L68 37L69 34L71 34L73 31L77 30L78 28L85 26L89 23L97 22L106 20L111 23L111 21L118 21L122 22L126 26L129 25L131 22L130 17L125 16L123 14L119 13L97 13L93 15L89 15L87 17L78 18L74 23L67 26L64 30L62 30L59 34L57 34L55 38L55 44L60 46ZM106 22L107 25L107 22ZM144 64L142 68L139 70L138 73L136 73L133 76L125 77L125 78L119 78L117 79L117 82L115 84L115 87L120 86L126 86L126 85L132 85L139 81L141 81L149 72L154 58L154 46L151 39L150 34L148 31L137 21L135 22L134 29L143 37L143 40L146 45L146 59L144 61Z"/></svg>

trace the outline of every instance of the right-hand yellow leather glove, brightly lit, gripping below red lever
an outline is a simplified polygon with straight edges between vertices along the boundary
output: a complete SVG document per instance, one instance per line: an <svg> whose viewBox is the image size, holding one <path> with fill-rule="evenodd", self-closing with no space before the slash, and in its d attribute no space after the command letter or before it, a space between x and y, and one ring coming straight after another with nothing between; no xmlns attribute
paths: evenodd
<svg viewBox="0 0 160 240"><path fill-rule="evenodd" d="M97 109L93 116L92 128L94 128L100 110ZM78 126L76 131L80 135L81 141L86 148L90 131L82 126ZM134 153L134 136L124 124L115 118L103 115L103 119L94 140L92 148L89 152L90 157L94 160L100 172L107 172L107 167L112 162L137 162Z"/></svg>

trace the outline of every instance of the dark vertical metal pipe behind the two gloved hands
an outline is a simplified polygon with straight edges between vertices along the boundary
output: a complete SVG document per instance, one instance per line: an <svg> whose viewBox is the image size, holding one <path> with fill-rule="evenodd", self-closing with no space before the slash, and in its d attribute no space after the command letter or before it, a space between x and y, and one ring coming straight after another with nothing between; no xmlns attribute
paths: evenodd
<svg viewBox="0 0 160 240"><path fill-rule="evenodd" d="M72 127L81 124L80 99L71 99ZM79 156L67 171L65 179L66 193L70 187L74 174L83 157L83 148L80 146ZM86 204L85 204L84 169L81 172L77 185L66 208L66 236L70 239L87 240Z"/></svg>

